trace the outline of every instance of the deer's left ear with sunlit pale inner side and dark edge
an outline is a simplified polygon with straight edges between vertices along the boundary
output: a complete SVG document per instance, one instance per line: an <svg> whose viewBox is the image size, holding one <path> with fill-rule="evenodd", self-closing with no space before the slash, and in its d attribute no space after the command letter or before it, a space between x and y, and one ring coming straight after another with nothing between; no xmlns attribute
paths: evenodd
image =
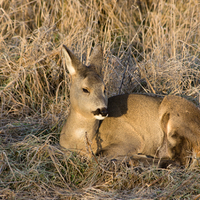
<svg viewBox="0 0 200 200"><path fill-rule="evenodd" d="M81 64L79 59L65 46L62 47L65 64L71 76L77 73L77 68Z"/></svg>

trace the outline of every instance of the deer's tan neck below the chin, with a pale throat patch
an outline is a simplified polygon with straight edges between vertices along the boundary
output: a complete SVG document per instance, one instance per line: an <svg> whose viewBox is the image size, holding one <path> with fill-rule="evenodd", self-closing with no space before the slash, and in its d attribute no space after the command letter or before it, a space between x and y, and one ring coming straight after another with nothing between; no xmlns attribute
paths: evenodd
<svg viewBox="0 0 200 200"><path fill-rule="evenodd" d="M73 135L77 140L87 138L92 141L99 127L99 120L87 118L71 108L67 119L67 132Z"/></svg>

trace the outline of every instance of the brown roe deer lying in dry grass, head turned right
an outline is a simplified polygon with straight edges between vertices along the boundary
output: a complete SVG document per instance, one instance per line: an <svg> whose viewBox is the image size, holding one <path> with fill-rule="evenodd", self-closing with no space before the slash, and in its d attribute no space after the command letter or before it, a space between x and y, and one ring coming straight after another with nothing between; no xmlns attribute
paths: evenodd
<svg viewBox="0 0 200 200"><path fill-rule="evenodd" d="M96 155L109 158L143 154L185 164L191 152L200 157L200 110L193 103L178 96L141 94L107 100L97 73L103 65L101 46L92 51L90 66L64 45L62 51L71 76L71 110L60 135L62 147L87 154L87 137Z"/></svg>

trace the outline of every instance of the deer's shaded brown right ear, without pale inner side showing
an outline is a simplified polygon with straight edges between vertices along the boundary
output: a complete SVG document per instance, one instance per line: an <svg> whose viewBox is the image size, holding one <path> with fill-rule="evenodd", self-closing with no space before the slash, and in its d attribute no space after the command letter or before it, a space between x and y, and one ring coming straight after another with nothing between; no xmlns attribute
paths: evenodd
<svg viewBox="0 0 200 200"><path fill-rule="evenodd" d="M97 44L91 53L90 67L94 68L97 73L101 75L103 67L103 49L100 44Z"/></svg>

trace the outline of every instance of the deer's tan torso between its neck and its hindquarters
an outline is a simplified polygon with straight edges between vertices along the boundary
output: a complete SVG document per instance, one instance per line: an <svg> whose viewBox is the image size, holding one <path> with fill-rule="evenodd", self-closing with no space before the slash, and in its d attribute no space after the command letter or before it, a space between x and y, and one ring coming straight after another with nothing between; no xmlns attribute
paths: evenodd
<svg viewBox="0 0 200 200"><path fill-rule="evenodd" d="M160 98L134 94L109 98L109 117L103 120L98 132L103 154L109 157L137 153L154 156L163 138L158 123L160 102Z"/></svg>

